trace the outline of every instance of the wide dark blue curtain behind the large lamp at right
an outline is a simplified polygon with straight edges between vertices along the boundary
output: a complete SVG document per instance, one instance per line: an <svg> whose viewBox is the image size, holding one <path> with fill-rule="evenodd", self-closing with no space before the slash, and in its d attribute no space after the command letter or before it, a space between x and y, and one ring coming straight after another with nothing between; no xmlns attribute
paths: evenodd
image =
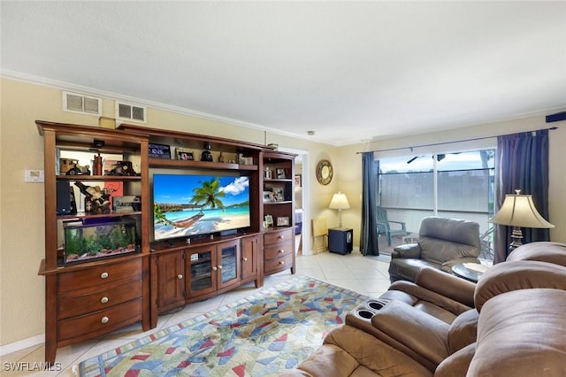
<svg viewBox="0 0 566 377"><path fill-rule="evenodd" d="M529 194L545 219L548 219L548 130L524 132L497 137L498 174L495 192L496 210L501 207L506 194ZM498 225L495 232L494 263L500 263L509 254L512 227ZM548 229L522 228L523 242L549 241Z"/></svg>

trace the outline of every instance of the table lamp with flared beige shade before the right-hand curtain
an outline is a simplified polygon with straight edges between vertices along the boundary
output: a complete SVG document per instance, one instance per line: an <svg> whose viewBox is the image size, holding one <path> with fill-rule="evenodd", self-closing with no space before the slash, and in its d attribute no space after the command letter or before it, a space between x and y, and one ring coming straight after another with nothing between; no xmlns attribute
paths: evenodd
<svg viewBox="0 0 566 377"><path fill-rule="evenodd" d="M555 227L537 211L532 196L521 195L520 189L516 189L515 192L516 194L507 194L499 211L495 213L493 218L487 220L487 222L493 222L493 224L513 227L509 251L515 250L523 244L521 242L523 239L521 227Z"/></svg>

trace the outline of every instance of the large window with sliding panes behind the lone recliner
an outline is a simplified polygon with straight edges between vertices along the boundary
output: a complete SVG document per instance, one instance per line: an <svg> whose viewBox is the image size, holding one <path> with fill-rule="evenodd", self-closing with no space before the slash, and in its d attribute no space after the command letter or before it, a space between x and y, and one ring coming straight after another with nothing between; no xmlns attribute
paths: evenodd
<svg viewBox="0 0 566 377"><path fill-rule="evenodd" d="M478 222L486 245L480 258L492 259L491 224L495 150L380 158L378 203L389 219L417 234L426 216Z"/></svg>

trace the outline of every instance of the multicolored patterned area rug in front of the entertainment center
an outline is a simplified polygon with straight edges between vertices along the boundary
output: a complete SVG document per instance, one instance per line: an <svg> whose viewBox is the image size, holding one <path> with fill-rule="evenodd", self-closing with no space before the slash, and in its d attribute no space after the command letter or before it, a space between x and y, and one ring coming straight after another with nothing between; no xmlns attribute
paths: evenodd
<svg viewBox="0 0 566 377"><path fill-rule="evenodd" d="M270 376L292 369L366 300L308 276L80 363L83 376Z"/></svg>

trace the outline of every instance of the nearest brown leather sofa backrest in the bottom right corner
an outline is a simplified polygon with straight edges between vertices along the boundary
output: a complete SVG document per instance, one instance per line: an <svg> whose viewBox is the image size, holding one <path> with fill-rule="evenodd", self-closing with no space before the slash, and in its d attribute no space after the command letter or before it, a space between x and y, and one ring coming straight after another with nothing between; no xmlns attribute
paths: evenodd
<svg viewBox="0 0 566 377"><path fill-rule="evenodd" d="M566 375L564 312L566 291L561 289L494 296L480 312L476 353L467 375Z"/></svg>

